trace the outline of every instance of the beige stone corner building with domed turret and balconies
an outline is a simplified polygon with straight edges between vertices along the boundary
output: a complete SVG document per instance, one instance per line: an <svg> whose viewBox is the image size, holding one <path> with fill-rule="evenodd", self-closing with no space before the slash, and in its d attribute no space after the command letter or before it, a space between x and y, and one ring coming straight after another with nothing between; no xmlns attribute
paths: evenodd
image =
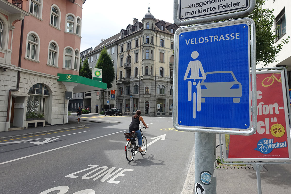
<svg viewBox="0 0 291 194"><path fill-rule="evenodd" d="M121 30L116 41L116 108L125 115L171 116L175 24L156 19L148 8L141 22Z"/></svg>

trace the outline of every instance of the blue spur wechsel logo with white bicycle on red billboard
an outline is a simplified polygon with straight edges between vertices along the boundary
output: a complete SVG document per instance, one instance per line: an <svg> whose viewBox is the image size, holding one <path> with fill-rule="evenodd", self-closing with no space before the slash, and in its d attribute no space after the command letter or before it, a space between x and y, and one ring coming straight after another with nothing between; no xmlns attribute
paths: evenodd
<svg viewBox="0 0 291 194"><path fill-rule="evenodd" d="M262 138L258 141L257 147L254 150L257 150L262 154L269 154L273 149L281 147L287 147L287 142L274 143L274 139Z"/></svg>

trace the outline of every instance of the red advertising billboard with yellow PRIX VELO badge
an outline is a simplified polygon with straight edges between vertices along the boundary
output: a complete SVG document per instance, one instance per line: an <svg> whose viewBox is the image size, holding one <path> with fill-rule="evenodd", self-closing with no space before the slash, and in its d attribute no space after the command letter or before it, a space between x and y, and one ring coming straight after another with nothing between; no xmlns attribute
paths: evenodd
<svg viewBox="0 0 291 194"><path fill-rule="evenodd" d="M291 160L283 70L257 72L257 130L251 136L223 136L225 161Z"/></svg>

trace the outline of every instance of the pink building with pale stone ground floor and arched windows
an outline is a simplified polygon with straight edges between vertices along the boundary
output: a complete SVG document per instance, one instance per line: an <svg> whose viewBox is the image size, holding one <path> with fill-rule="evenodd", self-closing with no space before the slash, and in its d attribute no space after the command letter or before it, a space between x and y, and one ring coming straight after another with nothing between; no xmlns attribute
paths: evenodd
<svg viewBox="0 0 291 194"><path fill-rule="evenodd" d="M67 123L65 92L86 88L77 81L85 1L0 0L0 131Z"/></svg>

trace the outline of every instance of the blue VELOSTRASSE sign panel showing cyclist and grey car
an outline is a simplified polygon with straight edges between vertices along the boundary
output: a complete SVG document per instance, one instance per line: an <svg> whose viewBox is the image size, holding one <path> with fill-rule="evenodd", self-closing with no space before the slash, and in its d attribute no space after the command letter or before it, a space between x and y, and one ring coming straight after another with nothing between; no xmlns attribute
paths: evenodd
<svg viewBox="0 0 291 194"><path fill-rule="evenodd" d="M175 122L202 129L250 129L249 25L186 28L175 35Z"/></svg>

